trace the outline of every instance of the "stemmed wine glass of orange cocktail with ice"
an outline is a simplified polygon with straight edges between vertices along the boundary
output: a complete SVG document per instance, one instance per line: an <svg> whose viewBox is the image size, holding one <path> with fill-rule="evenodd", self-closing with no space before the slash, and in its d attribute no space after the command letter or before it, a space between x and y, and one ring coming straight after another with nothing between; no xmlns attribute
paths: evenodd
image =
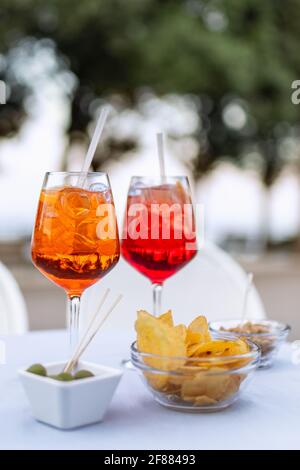
<svg viewBox="0 0 300 470"><path fill-rule="evenodd" d="M32 260L70 300L71 343L78 337L80 297L118 262L113 197L104 173L47 173L32 237ZM78 182L80 186L78 187Z"/></svg>

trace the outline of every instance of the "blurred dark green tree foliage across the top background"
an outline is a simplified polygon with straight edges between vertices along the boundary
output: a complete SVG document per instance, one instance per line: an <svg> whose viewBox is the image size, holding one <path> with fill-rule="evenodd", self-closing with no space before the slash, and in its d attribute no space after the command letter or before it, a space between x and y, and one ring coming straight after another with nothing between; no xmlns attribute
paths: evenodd
<svg viewBox="0 0 300 470"><path fill-rule="evenodd" d="M0 135L22 123L30 93L12 51L24 38L49 38L58 68L76 77L69 133L86 132L96 98L117 93L136 107L149 87L194 96L196 176L224 156L241 163L255 150L269 186L284 165L279 144L299 120L290 97L300 79L300 0L1 0L0 21L0 79L12 90ZM246 116L243 126L224 119L232 103Z"/></svg>

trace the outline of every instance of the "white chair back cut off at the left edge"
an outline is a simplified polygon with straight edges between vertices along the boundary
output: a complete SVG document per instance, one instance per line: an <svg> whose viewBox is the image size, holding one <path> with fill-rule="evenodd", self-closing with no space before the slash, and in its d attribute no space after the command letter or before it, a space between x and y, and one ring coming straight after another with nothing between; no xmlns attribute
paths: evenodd
<svg viewBox="0 0 300 470"><path fill-rule="evenodd" d="M23 295L11 272L0 263L0 335L22 334L27 329Z"/></svg>

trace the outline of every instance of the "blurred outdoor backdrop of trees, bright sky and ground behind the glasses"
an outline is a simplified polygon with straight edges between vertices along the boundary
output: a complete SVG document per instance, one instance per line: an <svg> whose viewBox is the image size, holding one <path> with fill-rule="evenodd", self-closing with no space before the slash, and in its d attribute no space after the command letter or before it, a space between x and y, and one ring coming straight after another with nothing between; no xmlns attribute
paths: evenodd
<svg viewBox="0 0 300 470"><path fill-rule="evenodd" d="M156 171L161 130L206 238L300 335L300 0L1 0L0 21L0 260L30 328L65 322L64 292L30 261L44 173L80 169L109 103L93 165L109 172L120 223L130 176Z"/></svg>

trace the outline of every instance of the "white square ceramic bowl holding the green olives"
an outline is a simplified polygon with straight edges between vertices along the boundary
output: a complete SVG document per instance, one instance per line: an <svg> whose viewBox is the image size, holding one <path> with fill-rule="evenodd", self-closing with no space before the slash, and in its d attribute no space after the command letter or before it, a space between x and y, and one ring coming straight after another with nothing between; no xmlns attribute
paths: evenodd
<svg viewBox="0 0 300 470"><path fill-rule="evenodd" d="M45 364L49 375L58 374L66 362ZM95 377L60 382L19 371L34 417L60 429L72 429L102 421L122 376L122 371L89 362L78 369L90 370Z"/></svg>

